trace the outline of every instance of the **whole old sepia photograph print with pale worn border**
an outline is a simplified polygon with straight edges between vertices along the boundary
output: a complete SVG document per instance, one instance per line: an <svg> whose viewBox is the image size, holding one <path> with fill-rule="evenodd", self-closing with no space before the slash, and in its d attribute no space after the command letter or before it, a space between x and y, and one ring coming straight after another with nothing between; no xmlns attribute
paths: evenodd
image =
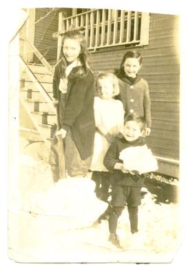
<svg viewBox="0 0 186 269"><path fill-rule="evenodd" d="M180 15L66 5L22 7L11 27L8 257L172 263Z"/></svg>

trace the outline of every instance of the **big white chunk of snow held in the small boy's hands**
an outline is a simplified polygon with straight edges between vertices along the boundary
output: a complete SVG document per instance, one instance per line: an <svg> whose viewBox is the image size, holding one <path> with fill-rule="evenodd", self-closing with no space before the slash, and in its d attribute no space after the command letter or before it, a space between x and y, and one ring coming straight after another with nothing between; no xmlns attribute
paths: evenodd
<svg viewBox="0 0 186 269"><path fill-rule="evenodd" d="M147 145L125 148L120 152L119 159L129 171L136 170L143 174L158 170L156 158Z"/></svg>

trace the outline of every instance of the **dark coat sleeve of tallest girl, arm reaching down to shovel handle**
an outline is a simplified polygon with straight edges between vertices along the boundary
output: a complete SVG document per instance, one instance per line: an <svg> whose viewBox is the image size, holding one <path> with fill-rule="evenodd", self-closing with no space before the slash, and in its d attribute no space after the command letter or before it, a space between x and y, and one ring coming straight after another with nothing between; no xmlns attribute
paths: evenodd
<svg viewBox="0 0 186 269"><path fill-rule="evenodd" d="M77 79L70 90L61 128L68 130L83 110L87 90L94 92L94 77Z"/></svg>

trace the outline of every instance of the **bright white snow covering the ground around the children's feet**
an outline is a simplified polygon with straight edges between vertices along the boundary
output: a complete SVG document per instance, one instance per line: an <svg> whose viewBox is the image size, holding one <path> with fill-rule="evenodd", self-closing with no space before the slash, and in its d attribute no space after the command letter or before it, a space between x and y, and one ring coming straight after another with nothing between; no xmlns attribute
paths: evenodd
<svg viewBox="0 0 186 269"><path fill-rule="evenodd" d="M94 194L90 178L53 183L42 159L20 155L20 176L10 181L10 257L21 261L163 262L179 245L178 204L155 203L149 192L138 211L138 235L130 233L127 208L118 221L123 250L107 241L108 223L92 222L107 208ZM147 190L146 190L147 191Z"/></svg>

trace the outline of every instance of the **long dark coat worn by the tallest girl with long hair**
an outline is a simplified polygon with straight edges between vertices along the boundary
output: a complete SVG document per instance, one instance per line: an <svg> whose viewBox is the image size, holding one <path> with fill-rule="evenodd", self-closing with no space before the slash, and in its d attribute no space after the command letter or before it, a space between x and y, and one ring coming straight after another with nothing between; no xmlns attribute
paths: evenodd
<svg viewBox="0 0 186 269"><path fill-rule="evenodd" d="M94 75L88 70L86 76L74 77L74 69L68 76L65 94L59 90L61 75L58 68L55 69L53 96L59 100L60 128L71 130L81 159L86 159L92 155L95 133Z"/></svg>

